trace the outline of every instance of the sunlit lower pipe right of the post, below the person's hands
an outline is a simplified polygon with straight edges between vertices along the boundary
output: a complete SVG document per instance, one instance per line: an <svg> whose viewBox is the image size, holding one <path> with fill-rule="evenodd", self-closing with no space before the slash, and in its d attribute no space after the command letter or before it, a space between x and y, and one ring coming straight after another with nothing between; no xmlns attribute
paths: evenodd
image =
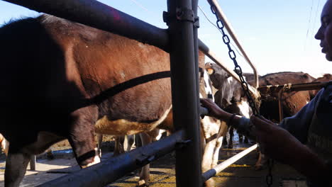
<svg viewBox="0 0 332 187"><path fill-rule="evenodd" d="M211 177L213 177L216 174L218 174L219 172L223 171L223 169L226 169L228 166L230 166L234 162L238 161L238 159L240 159L240 158L244 157L245 155L247 155L248 153L252 152L253 149L257 148L257 146L258 146L258 144L255 144L255 145L249 147L248 149L245 149L244 151L234 155L233 157L226 159L226 161L221 162L221 164L218 164L213 169L209 169L208 171L205 171L204 174L201 176L202 181L209 180Z"/></svg>

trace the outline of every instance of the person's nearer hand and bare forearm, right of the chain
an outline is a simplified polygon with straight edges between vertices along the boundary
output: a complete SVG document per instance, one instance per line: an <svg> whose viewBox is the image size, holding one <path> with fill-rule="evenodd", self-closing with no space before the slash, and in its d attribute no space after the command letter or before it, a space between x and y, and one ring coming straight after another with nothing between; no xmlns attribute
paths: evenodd
<svg viewBox="0 0 332 187"><path fill-rule="evenodd" d="M257 137L257 142L260 143L263 154L293 166L319 186L322 186L321 184L329 186L327 183L331 182L329 180L331 173L329 173L328 166L309 147L269 120L252 116L250 121L254 125L253 132Z"/></svg>

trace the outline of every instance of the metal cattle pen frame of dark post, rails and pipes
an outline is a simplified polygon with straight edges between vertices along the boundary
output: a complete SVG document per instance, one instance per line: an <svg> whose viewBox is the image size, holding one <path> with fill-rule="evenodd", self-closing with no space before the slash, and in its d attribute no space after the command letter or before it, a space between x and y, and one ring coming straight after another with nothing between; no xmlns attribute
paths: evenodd
<svg viewBox="0 0 332 187"><path fill-rule="evenodd" d="M149 45L155 45L170 53L172 108L177 132L145 147L134 149L106 162L90 166L74 174L62 176L40 186L106 186L128 172L175 150L177 186L199 187L203 186L204 181L215 176L222 169L257 147L257 145L253 145L216 166L216 168L210 169L204 174L201 172L199 115L204 112L199 107L198 50L200 49L211 60L221 65L232 77L235 77L238 81L240 79L209 50L204 42L197 38L199 27L199 18L197 17L198 0L167 0L168 10L164 12L163 17L167 26L169 26L168 29L157 28L94 0L4 1L123 35ZM223 21L226 29L231 33L231 37L236 41L241 52L245 54L242 47L240 47L240 43L236 40L236 35L228 26L221 8L216 1L208 1L214 7L218 18ZM258 88L258 72L247 55L245 55L245 58L253 67L255 87ZM257 93L256 89L251 86L248 86L248 89L254 94Z"/></svg>

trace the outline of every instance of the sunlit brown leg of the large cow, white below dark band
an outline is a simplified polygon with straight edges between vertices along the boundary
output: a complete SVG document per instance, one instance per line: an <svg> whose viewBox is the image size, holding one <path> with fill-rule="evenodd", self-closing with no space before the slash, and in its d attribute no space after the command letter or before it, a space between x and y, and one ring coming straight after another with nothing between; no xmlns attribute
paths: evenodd
<svg viewBox="0 0 332 187"><path fill-rule="evenodd" d="M82 168L100 162L96 142L94 141L96 114L97 108L93 106L80 108L72 113L74 123L70 129L68 140L72 146L77 163Z"/></svg>

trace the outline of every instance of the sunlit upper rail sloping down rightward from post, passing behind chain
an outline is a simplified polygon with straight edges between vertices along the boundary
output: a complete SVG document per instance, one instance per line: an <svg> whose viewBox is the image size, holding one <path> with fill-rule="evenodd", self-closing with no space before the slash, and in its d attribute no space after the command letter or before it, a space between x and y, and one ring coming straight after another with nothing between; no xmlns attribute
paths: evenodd
<svg viewBox="0 0 332 187"><path fill-rule="evenodd" d="M214 52L211 52L211 50L209 49L209 47L207 47L204 42L202 42L201 40L199 40L199 50L201 50L201 52L203 52L206 56L208 56L211 60L213 60L214 62L216 62L216 64L218 64L219 67L221 67L223 70L225 70L228 74L231 75L231 77L233 77L234 79L236 79L236 81L240 82L240 78L238 77L238 74L236 74L233 70L229 69L226 64L224 64L221 59L219 57L217 57ZM253 86L249 86L249 91L252 94L255 94L255 96L258 96L258 93L256 91L256 89L253 88Z"/></svg>

